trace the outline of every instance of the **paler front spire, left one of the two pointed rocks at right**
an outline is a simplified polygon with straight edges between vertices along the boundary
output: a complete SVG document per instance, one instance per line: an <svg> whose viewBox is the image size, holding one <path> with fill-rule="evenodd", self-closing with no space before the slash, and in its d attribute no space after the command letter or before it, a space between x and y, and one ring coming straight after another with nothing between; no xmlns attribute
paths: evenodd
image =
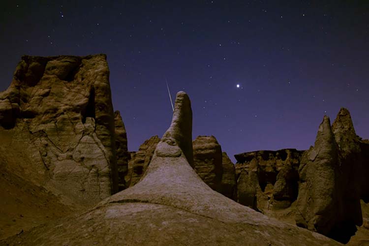
<svg viewBox="0 0 369 246"><path fill-rule="evenodd" d="M339 166L338 146L330 120L325 116L314 147L302 156L295 215L297 225L328 235L341 220Z"/></svg>

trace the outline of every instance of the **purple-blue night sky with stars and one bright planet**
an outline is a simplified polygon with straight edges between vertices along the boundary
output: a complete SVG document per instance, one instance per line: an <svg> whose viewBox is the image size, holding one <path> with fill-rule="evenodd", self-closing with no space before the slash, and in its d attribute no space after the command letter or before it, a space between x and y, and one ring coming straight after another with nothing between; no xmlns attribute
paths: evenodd
<svg viewBox="0 0 369 246"><path fill-rule="evenodd" d="M169 127L165 80L233 160L307 149L340 107L369 138L369 1L32 2L1 1L0 91L22 55L107 54L130 151Z"/></svg>

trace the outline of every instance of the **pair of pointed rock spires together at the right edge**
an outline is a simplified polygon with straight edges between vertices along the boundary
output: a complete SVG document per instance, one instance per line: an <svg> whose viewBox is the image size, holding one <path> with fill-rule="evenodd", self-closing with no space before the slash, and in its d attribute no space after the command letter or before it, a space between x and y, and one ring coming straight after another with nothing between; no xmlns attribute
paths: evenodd
<svg viewBox="0 0 369 246"><path fill-rule="evenodd" d="M363 224L360 200L367 197L368 156L351 116L341 108L330 125L324 117L314 147L300 166L296 223L347 243Z"/></svg>

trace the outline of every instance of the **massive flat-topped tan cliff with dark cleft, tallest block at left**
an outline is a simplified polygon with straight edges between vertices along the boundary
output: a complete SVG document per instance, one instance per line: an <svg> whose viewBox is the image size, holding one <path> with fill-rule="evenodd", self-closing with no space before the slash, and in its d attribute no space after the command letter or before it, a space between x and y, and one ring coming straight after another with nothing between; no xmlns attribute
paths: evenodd
<svg viewBox="0 0 369 246"><path fill-rule="evenodd" d="M80 205L117 191L105 55L22 57L0 93L0 128L5 153L29 160L9 170L31 182Z"/></svg>

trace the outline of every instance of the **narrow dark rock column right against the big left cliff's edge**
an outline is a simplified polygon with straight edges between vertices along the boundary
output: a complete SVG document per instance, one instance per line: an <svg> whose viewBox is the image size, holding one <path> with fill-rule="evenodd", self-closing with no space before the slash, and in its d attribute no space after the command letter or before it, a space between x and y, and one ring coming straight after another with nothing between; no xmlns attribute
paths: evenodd
<svg viewBox="0 0 369 246"><path fill-rule="evenodd" d="M118 190L121 191L126 187L124 177L128 174L128 160L130 159L130 154L128 153L127 148L127 133L125 131L122 116L119 111L114 112L114 122L118 170Z"/></svg>

